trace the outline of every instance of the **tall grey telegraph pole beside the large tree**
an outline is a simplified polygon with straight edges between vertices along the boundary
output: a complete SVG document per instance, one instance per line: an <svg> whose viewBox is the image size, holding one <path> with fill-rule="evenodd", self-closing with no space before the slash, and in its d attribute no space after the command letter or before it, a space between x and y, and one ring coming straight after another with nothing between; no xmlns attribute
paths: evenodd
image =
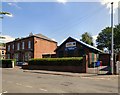
<svg viewBox="0 0 120 95"><path fill-rule="evenodd" d="M112 29L112 39L111 39L111 74L114 74L114 28L113 28L113 2L111 3L111 29Z"/></svg>

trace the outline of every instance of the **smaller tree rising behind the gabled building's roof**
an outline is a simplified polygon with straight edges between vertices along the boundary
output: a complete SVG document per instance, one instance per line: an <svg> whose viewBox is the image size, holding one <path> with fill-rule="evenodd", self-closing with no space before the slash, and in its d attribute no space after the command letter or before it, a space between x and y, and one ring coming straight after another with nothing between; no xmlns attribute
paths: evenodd
<svg viewBox="0 0 120 95"><path fill-rule="evenodd" d="M80 40L89 45L93 45L93 38L88 32L85 32L84 34L82 34L82 39Z"/></svg>

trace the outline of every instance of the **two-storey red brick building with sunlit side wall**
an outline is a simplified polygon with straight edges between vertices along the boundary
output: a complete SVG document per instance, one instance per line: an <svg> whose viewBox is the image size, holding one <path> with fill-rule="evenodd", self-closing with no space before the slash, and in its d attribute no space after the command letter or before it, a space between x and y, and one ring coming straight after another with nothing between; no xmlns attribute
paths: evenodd
<svg viewBox="0 0 120 95"><path fill-rule="evenodd" d="M42 34L35 34L6 43L6 57L28 61L31 58L42 58L43 54L55 54L56 48L57 42Z"/></svg>

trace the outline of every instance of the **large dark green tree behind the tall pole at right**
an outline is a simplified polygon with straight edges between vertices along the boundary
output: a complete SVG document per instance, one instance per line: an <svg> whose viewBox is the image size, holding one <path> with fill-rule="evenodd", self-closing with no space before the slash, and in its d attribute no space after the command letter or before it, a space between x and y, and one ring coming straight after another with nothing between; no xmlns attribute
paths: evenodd
<svg viewBox="0 0 120 95"><path fill-rule="evenodd" d="M114 27L114 49L120 48L120 24ZM112 29L111 27L106 27L99 33L97 37L97 48L104 49L108 48L111 50L111 37L112 37Z"/></svg>

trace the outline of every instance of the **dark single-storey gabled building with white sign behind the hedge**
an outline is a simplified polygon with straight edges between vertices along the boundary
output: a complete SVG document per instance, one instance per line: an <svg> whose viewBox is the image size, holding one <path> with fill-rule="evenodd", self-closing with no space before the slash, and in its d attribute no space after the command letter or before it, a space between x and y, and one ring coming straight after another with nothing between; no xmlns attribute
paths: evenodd
<svg viewBox="0 0 120 95"><path fill-rule="evenodd" d="M88 63L96 62L101 50L94 46L78 41L72 37L67 38L56 50L57 57L83 57L88 56Z"/></svg>

